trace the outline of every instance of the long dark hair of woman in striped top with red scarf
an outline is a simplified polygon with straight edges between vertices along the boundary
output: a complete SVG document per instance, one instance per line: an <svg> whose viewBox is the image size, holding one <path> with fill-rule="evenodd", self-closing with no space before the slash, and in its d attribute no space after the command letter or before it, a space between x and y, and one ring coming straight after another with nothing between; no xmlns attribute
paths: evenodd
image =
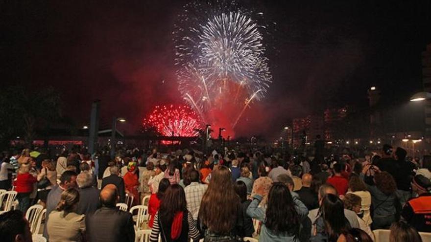
<svg viewBox="0 0 431 242"><path fill-rule="evenodd" d="M160 220L164 224L171 224L177 212L185 211L187 211L187 202L183 187L178 184L170 185L160 203Z"/></svg>

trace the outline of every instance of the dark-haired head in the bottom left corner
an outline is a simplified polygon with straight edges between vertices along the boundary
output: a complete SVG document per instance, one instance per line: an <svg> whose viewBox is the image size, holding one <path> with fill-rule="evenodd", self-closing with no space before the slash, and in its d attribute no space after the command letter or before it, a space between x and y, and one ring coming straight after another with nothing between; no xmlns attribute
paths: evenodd
<svg viewBox="0 0 431 242"><path fill-rule="evenodd" d="M28 221L20 210L11 210L0 215L0 238L2 242L31 242Z"/></svg>

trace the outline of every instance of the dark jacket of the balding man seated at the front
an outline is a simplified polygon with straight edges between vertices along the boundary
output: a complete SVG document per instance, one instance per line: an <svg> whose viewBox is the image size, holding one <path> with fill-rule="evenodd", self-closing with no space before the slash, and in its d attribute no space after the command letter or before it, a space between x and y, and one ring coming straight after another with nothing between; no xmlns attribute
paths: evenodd
<svg viewBox="0 0 431 242"><path fill-rule="evenodd" d="M101 207L86 219L87 241L134 242L132 214L117 207Z"/></svg>

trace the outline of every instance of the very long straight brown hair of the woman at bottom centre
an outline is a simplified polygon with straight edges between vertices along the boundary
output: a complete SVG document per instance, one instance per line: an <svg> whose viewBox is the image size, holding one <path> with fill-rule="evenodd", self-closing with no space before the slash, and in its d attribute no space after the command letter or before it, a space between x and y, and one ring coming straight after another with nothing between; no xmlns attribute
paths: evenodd
<svg viewBox="0 0 431 242"><path fill-rule="evenodd" d="M229 168L215 168L199 209L202 223L211 231L230 232L237 219L239 204Z"/></svg>

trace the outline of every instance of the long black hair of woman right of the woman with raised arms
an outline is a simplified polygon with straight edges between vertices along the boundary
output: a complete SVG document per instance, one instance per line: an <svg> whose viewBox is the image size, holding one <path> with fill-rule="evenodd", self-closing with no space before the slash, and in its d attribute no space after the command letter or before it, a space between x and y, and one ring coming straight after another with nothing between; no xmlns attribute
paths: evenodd
<svg viewBox="0 0 431 242"><path fill-rule="evenodd" d="M325 220L325 230L330 242L337 241L338 236L347 233L350 223L344 216L344 203L334 194L327 194L320 207Z"/></svg>

